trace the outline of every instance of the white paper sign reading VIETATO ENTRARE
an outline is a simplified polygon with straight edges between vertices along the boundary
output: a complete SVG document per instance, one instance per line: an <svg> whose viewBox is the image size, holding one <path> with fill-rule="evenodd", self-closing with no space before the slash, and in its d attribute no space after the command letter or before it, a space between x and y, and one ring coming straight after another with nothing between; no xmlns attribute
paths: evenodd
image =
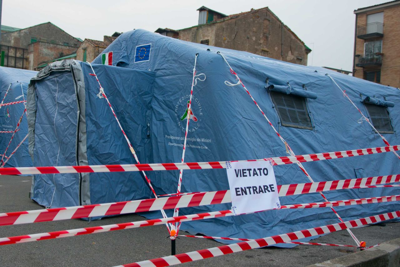
<svg viewBox="0 0 400 267"><path fill-rule="evenodd" d="M280 208L269 161L225 162L234 214Z"/></svg>

